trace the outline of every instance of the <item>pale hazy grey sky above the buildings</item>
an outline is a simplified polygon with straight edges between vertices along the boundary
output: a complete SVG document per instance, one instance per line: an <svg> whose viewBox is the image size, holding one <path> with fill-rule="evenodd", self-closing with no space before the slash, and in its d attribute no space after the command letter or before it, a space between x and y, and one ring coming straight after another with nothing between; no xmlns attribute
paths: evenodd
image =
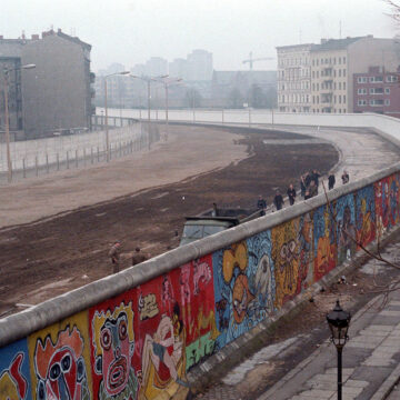
<svg viewBox="0 0 400 400"><path fill-rule="evenodd" d="M92 70L152 56L169 61L192 49L213 53L214 69L247 69L241 60L276 56L276 46L320 38L393 37L382 0L12 0L1 1L0 34L30 37L51 27L92 44ZM272 69L276 61L254 64Z"/></svg>

